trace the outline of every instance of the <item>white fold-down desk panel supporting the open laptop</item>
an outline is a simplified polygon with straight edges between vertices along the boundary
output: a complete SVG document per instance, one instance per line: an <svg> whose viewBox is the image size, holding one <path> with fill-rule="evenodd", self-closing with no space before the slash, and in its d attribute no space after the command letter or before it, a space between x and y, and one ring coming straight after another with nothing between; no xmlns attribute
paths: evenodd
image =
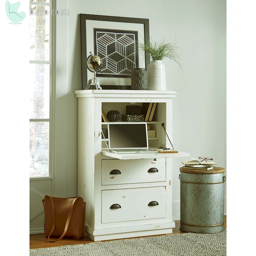
<svg viewBox="0 0 256 256"><path fill-rule="evenodd" d="M108 150L102 150L101 154L104 156L110 156L120 160L126 159L149 159L149 158L173 158L173 157L188 157L189 153L179 152L179 153L141 153L141 154L116 154L113 152L108 152Z"/></svg>

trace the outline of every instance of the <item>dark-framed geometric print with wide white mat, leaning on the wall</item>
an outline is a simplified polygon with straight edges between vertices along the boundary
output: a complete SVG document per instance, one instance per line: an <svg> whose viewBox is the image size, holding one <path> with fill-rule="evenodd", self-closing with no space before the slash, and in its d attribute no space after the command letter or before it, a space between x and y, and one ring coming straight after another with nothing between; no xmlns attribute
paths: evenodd
<svg viewBox="0 0 256 256"><path fill-rule="evenodd" d="M147 69L150 56L138 53L138 41L149 39L148 19L80 14L82 89L93 73L87 70L89 52L102 59L97 73L102 89L130 89L131 71Z"/></svg>

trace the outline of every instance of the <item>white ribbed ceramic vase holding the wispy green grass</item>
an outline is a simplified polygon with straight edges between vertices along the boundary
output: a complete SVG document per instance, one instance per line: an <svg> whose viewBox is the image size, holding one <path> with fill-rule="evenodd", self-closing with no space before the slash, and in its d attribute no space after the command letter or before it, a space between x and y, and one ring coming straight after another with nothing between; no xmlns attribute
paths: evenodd
<svg viewBox="0 0 256 256"><path fill-rule="evenodd" d="M147 89L166 90L165 65L161 60L151 60L147 68Z"/></svg>

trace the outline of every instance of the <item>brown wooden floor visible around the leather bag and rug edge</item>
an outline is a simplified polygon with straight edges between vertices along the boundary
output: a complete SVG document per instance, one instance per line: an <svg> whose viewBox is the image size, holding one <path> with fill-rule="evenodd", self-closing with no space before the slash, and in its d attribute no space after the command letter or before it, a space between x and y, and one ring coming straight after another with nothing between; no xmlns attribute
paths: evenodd
<svg viewBox="0 0 256 256"><path fill-rule="evenodd" d="M180 228L180 221L175 221L175 228L172 229L172 234L185 233L181 231L179 228ZM225 229L227 228L226 216L224 216L224 228ZM55 247L55 246L61 246L61 245L72 245L72 244L85 244L85 243L91 243L91 242L94 242L94 241L89 239L88 237L85 237L84 239L81 239L81 240L62 238L60 241L56 243L52 243L45 238L44 234L30 235L30 249Z"/></svg>

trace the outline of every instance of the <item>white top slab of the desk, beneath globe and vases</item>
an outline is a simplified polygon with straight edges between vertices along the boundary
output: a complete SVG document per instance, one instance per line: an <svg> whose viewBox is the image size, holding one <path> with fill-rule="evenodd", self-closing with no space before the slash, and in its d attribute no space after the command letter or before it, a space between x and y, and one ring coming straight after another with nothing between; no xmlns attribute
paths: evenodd
<svg viewBox="0 0 256 256"><path fill-rule="evenodd" d="M152 90L76 90L76 97L152 97L173 98L177 91Z"/></svg>

